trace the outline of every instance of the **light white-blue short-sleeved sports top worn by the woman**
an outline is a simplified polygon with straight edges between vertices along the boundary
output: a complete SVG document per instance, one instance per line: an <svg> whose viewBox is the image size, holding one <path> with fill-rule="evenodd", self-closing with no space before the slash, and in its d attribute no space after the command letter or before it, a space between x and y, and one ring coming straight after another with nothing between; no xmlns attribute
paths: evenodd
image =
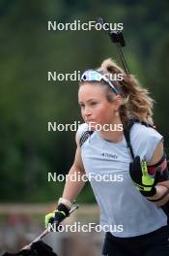
<svg viewBox="0 0 169 256"><path fill-rule="evenodd" d="M81 137L88 125L79 126ZM130 131L134 155L151 161L155 147L162 136L155 129L135 123ZM114 144L100 138L95 131L81 146L81 156L100 210L102 230L115 237L144 235L167 225L167 216L155 203L148 201L136 189L129 176L132 161L124 136Z"/></svg>

